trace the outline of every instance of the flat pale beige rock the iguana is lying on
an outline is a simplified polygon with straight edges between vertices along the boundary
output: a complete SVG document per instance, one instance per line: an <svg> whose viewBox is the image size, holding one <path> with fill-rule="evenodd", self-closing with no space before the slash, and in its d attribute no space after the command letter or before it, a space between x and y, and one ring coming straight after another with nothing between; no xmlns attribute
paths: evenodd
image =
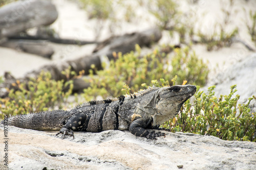
<svg viewBox="0 0 256 170"><path fill-rule="evenodd" d="M54 135L9 126L9 169L256 169L254 142L170 132L149 140L118 130Z"/></svg>

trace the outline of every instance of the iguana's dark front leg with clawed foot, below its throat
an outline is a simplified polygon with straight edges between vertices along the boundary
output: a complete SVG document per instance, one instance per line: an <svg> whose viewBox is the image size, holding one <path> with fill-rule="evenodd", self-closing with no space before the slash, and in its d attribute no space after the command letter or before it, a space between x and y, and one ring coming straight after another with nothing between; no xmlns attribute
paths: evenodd
<svg viewBox="0 0 256 170"><path fill-rule="evenodd" d="M146 122L143 118L138 118L132 122L129 127L129 131L134 134L135 136L146 137L147 139L157 139L156 137L164 136L165 133L162 132L155 132L155 131L147 131L146 129Z"/></svg>

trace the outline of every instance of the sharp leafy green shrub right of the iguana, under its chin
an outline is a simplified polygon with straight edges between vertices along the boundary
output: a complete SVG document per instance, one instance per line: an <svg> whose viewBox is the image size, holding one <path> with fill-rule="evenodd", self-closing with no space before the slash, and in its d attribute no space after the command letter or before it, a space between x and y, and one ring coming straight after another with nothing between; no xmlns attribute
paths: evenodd
<svg viewBox="0 0 256 170"><path fill-rule="evenodd" d="M256 141L256 117L250 113L247 104L238 104L239 95L233 96L236 85L231 86L228 95L215 96L215 86L208 88L207 94L198 91L194 104L186 101L181 112L172 120L163 124L163 128L172 132L189 132L201 135L217 136L223 140Z"/></svg>

